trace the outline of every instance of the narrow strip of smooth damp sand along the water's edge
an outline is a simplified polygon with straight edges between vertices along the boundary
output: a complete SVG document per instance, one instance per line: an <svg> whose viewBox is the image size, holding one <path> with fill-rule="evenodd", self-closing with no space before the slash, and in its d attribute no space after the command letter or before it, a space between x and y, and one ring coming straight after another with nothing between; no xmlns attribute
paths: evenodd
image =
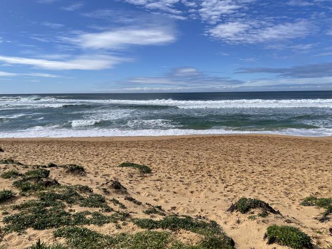
<svg viewBox="0 0 332 249"><path fill-rule="evenodd" d="M280 134L200 134L200 135L165 135L165 136L99 136L99 137L12 137L1 138L0 141L25 141L25 140L64 140L64 141L147 141L147 140L166 140L181 138L200 138L200 137L268 137L268 138L295 138L295 139L314 139L332 140L331 136L295 136Z"/></svg>

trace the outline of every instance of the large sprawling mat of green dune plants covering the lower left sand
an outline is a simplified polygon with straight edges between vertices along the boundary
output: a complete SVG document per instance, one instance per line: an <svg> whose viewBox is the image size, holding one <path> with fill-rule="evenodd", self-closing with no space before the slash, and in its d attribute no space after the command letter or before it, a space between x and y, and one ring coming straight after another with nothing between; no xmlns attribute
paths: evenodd
<svg viewBox="0 0 332 249"><path fill-rule="evenodd" d="M31 249L64 249L64 248L170 248L170 249L230 249L234 248L232 239L226 236L221 227L215 222L203 217L168 215L161 206L146 204L128 195L126 188L118 180L108 181L108 187L117 194L107 199L104 195L94 193L86 185L59 184L56 179L50 179L52 167L29 166L25 173L12 171L7 179L13 179L13 186L26 195L23 202L9 205L3 212L3 232L25 233L28 228L35 230L55 229L54 236L66 240L64 244L47 245L37 240ZM54 166L55 167L55 166ZM59 166L60 167L60 166ZM124 200L134 203L146 214L162 215L161 220L132 218L132 212L118 200L118 194L126 192ZM11 192L13 195L13 193ZM108 206L112 203L128 212L115 211ZM75 211L78 207L84 208ZM93 208L93 210L91 210ZM97 210L96 210L97 209ZM114 223L116 229L121 229L129 222L144 231L134 234L119 233L105 235L87 228L85 225L103 226ZM155 231L155 229L159 229ZM200 241L196 244L181 242L176 233L180 230L196 233Z"/></svg>

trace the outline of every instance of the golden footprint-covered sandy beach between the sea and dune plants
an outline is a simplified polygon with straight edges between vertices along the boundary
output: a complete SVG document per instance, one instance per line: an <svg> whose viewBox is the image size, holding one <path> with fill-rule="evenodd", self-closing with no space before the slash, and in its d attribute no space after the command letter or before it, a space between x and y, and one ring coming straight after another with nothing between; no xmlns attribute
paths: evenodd
<svg viewBox="0 0 332 249"><path fill-rule="evenodd" d="M169 213L215 220L234 240L236 248L287 248L267 245L263 240L266 228L273 224L301 229L313 238L314 248L332 244L332 220L320 222L315 217L322 209L300 205L310 195L332 197L332 137L16 138L0 139L0 147L5 151L0 153L0 159L12 158L29 165L75 163L86 169L86 176L79 177L65 174L61 168L52 169L51 176L61 184L88 185L94 192L102 193L100 187L117 178L142 203L160 205ZM149 165L152 173L140 175L136 169L116 167L123 162ZM0 164L0 173L13 168L22 167ZM19 196L10 179L1 179L0 189L4 188L17 193L6 205L29 198ZM241 197L259 198L282 215L249 219L248 214L227 212ZM0 213L1 220L4 216ZM3 222L0 224L4 226ZM105 234L139 231L133 225L121 230L112 224L88 227ZM64 239L53 237L53 230L28 229L21 235L1 233L0 247L25 248L37 238L47 243L64 243ZM191 236L187 238L197 240Z"/></svg>

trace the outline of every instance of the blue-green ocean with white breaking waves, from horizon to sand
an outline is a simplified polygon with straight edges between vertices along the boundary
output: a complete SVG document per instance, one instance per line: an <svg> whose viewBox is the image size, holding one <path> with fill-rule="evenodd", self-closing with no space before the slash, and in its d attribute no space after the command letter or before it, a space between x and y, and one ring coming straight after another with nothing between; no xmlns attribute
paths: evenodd
<svg viewBox="0 0 332 249"><path fill-rule="evenodd" d="M332 91L0 95L0 137L332 135Z"/></svg>

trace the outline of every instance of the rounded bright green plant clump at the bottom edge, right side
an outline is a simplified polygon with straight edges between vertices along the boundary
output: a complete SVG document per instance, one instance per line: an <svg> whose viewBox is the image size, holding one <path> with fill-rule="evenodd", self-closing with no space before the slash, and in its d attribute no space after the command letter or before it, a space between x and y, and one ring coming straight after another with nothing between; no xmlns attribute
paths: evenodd
<svg viewBox="0 0 332 249"><path fill-rule="evenodd" d="M268 244L277 243L294 249L312 247L311 237L291 226L270 226L267 228L264 239L268 240Z"/></svg>

